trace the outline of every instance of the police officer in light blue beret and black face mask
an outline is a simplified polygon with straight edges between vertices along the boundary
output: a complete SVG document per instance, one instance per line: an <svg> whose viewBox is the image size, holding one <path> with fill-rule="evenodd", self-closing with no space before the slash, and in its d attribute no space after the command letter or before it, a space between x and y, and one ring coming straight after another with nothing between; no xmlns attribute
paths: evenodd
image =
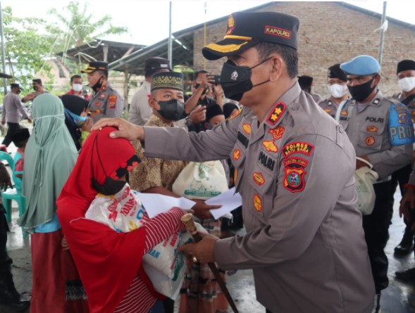
<svg viewBox="0 0 415 313"><path fill-rule="evenodd" d="M407 107L384 98L376 88L380 65L372 56L357 56L340 68L347 73L352 100L341 108L340 124L354 146L356 155L368 160L380 179L373 185L376 202L371 215L364 215L363 228L376 288L376 312L380 291L388 287L388 257L384 248L392 219L390 175L411 162L414 127ZM357 161L356 168L366 166Z"/></svg>

